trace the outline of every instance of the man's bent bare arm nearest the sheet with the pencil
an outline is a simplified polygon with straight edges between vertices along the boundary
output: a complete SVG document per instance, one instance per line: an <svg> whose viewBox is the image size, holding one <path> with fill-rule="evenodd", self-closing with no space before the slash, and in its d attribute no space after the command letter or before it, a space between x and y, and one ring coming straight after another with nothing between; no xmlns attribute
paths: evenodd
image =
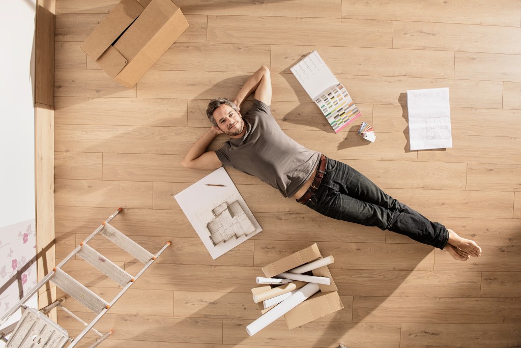
<svg viewBox="0 0 521 348"><path fill-rule="evenodd" d="M222 166L219 157L215 151L206 151L206 148L219 134L214 127L210 128L199 140L197 140L186 156L184 156L181 164L183 167L192 169L215 169Z"/></svg>

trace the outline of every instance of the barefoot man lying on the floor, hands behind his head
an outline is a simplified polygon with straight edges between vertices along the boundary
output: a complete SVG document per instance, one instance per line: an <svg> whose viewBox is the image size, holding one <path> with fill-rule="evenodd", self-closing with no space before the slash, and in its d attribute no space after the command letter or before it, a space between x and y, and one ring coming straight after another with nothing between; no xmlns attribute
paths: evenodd
<svg viewBox="0 0 521 348"><path fill-rule="evenodd" d="M253 92L253 106L243 116L240 106ZM446 250L456 260L481 255L474 241L398 202L352 167L289 138L271 115L270 104L270 72L262 66L233 101L210 101L206 114L213 126L193 144L182 165L196 169L230 166L322 215L404 234ZM223 133L230 140L217 151L207 151Z"/></svg>

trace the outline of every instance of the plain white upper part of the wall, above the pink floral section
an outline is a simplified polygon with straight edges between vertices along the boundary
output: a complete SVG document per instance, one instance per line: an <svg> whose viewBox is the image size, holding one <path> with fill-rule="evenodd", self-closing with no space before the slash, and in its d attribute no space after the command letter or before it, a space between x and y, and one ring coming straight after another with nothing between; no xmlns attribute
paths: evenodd
<svg viewBox="0 0 521 348"><path fill-rule="evenodd" d="M34 218L35 0L0 11L0 227Z"/></svg>

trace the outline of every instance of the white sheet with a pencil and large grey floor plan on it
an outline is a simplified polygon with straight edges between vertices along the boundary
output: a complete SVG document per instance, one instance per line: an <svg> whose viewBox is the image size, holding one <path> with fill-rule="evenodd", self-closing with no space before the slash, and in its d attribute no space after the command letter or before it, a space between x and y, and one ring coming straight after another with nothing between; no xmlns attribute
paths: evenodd
<svg viewBox="0 0 521 348"><path fill-rule="evenodd" d="M214 260L262 231L222 167L174 197Z"/></svg>

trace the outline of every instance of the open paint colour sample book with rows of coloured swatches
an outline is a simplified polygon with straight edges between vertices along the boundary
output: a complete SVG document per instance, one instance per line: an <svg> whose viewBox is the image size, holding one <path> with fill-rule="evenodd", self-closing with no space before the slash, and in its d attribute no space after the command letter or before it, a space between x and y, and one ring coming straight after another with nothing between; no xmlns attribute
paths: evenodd
<svg viewBox="0 0 521 348"><path fill-rule="evenodd" d="M317 51L307 55L290 70L326 116L335 133L361 116L348 91L334 77Z"/></svg>

